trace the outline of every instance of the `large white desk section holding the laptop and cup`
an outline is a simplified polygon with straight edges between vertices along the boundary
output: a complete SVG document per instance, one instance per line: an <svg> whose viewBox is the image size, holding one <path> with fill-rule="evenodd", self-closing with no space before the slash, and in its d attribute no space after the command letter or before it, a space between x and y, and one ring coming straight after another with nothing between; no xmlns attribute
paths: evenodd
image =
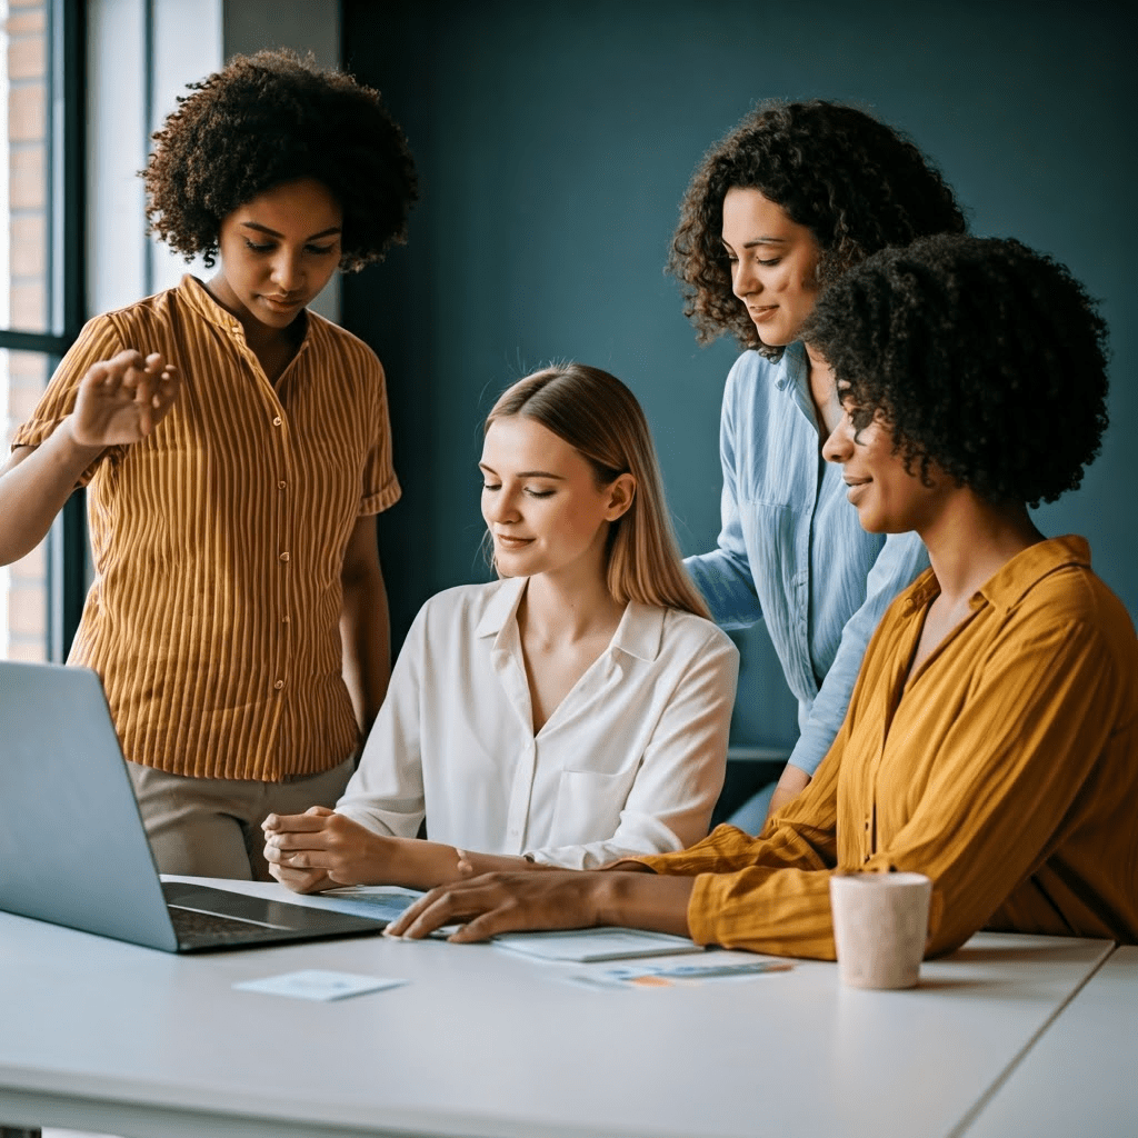
<svg viewBox="0 0 1138 1138"><path fill-rule="evenodd" d="M175 957L0 915L0 1120L156 1138L943 1138L1110 948L981 934L908 992L842 989L809 962L609 992L489 946ZM411 982L330 1004L232 990L306 967Z"/></svg>

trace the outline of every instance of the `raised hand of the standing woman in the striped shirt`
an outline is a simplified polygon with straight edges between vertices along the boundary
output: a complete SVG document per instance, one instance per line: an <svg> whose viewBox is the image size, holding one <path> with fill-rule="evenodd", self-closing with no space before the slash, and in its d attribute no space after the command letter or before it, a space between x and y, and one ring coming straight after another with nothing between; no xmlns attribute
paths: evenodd
<svg viewBox="0 0 1138 1138"><path fill-rule="evenodd" d="M158 352L143 357L129 348L92 364L79 385L72 437L98 448L138 443L165 418L180 386L178 369Z"/></svg>

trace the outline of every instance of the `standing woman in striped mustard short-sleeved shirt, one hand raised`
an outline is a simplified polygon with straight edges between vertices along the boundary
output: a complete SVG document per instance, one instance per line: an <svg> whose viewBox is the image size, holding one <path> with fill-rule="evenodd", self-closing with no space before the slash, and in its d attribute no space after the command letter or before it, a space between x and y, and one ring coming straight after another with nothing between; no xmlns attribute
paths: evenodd
<svg viewBox="0 0 1138 1138"><path fill-rule="evenodd" d="M388 677L384 370L308 311L406 236L379 93L287 51L190 84L150 229L216 272L91 320L0 471L0 563L89 485L72 663L102 678L159 869L267 877L261 819L331 806Z"/></svg>

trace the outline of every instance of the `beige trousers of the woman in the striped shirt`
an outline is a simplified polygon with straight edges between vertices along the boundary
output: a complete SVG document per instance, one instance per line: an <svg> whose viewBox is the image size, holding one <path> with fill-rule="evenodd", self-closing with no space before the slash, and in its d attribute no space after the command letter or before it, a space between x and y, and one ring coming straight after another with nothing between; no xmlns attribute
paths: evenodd
<svg viewBox="0 0 1138 1138"><path fill-rule="evenodd" d="M323 774L270 783L191 778L127 762L159 873L271 881L261 823L267 814L333 807L355 759Z"/></svg>

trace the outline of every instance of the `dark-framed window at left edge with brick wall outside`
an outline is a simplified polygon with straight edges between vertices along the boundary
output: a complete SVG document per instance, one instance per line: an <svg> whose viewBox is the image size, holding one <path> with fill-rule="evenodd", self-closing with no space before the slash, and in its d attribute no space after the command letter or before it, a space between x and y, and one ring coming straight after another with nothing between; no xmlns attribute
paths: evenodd
<svg viewBox="0 0 1138 1138"><path fill-rule="evenodd" d="M0 422L3 455L82 315L81 0L0 0ZM82 495L0 569L0 657L63 659L82 604Z"/></svg>

